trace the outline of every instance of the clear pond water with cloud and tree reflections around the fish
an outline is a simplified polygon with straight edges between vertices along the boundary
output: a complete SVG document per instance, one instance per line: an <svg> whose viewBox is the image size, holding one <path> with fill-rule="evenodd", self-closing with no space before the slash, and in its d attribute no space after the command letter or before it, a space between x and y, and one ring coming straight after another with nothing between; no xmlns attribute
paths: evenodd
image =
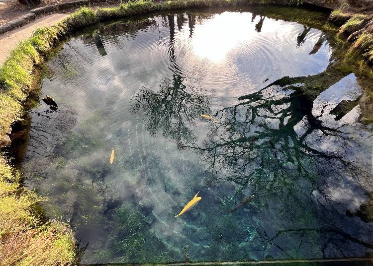
<svg viewBox="0 0 373 266"><path fill-rule="evenodd" d="M58 110L30 111L26 186L84 263L365 256L372 127L332 54L320 30L249 10L99 25L48 62Z"/></svg>

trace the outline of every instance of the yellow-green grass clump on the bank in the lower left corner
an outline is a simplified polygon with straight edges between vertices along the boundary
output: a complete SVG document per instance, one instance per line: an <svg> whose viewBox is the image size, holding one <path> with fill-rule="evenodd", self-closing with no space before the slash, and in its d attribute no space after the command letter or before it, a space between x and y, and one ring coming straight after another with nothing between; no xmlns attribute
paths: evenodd
<svg viewBox="0 0 373 266"><path fill-rule="evenodd" d="M43 224L37 204L46 200L19 184L19 174L0 155L0 266L73 265L76 244L69 226Z"/></svg>

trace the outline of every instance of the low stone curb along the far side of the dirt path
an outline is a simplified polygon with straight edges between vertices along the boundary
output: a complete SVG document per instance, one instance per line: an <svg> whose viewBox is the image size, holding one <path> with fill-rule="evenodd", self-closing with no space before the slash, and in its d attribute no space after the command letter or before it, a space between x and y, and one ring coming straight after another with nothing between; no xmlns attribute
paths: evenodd
<svg viewBox="0 0 373 266"><path fill-rule="evenodd" d="M80 7L83 5L102 3L106 1L107 0L76 0L76 1L67 2L67 3L57 3L53 5L46 5L46 6L38 7L35 9L31 9L30 13L27 13L26 15L21 16L20 18L6 22L2 26L0 26L0 35L27 24L31 20L35 19L36 16L40 16L40 15L44 15L44 14L48 14L48 13L52 13L56 11L63 11L63 10L71 9L74 7Z"/></svg>

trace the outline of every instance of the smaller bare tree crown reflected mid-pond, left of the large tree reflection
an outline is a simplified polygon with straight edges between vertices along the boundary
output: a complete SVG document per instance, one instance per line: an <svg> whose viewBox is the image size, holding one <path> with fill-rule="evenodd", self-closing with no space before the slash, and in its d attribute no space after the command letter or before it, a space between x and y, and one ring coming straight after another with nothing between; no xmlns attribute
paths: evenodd
<svg viewBox="0 0 373 266"><path fill-rule="evenodd" d="M143 88L134 98L132 111L144 111L149 133L162 130L177 143L189 143L195 139L195 118L209 113L209 99L201 95L199 89L187 88L183 78L174 74L171 80L163 81L159 92Z"/></svg>

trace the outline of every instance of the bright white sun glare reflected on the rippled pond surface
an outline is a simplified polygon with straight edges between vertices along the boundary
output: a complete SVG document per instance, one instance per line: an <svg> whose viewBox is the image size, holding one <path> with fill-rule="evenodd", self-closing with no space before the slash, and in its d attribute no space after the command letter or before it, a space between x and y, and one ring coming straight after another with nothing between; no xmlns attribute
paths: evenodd
<svg viewBox="0 0 373 266"><path fill-rule="evenodd" d="M192 46L195 55L219 62L243 40L250 40L256 34L247 30L251 17L246 13L224 12L195 28Z"/></svg>

